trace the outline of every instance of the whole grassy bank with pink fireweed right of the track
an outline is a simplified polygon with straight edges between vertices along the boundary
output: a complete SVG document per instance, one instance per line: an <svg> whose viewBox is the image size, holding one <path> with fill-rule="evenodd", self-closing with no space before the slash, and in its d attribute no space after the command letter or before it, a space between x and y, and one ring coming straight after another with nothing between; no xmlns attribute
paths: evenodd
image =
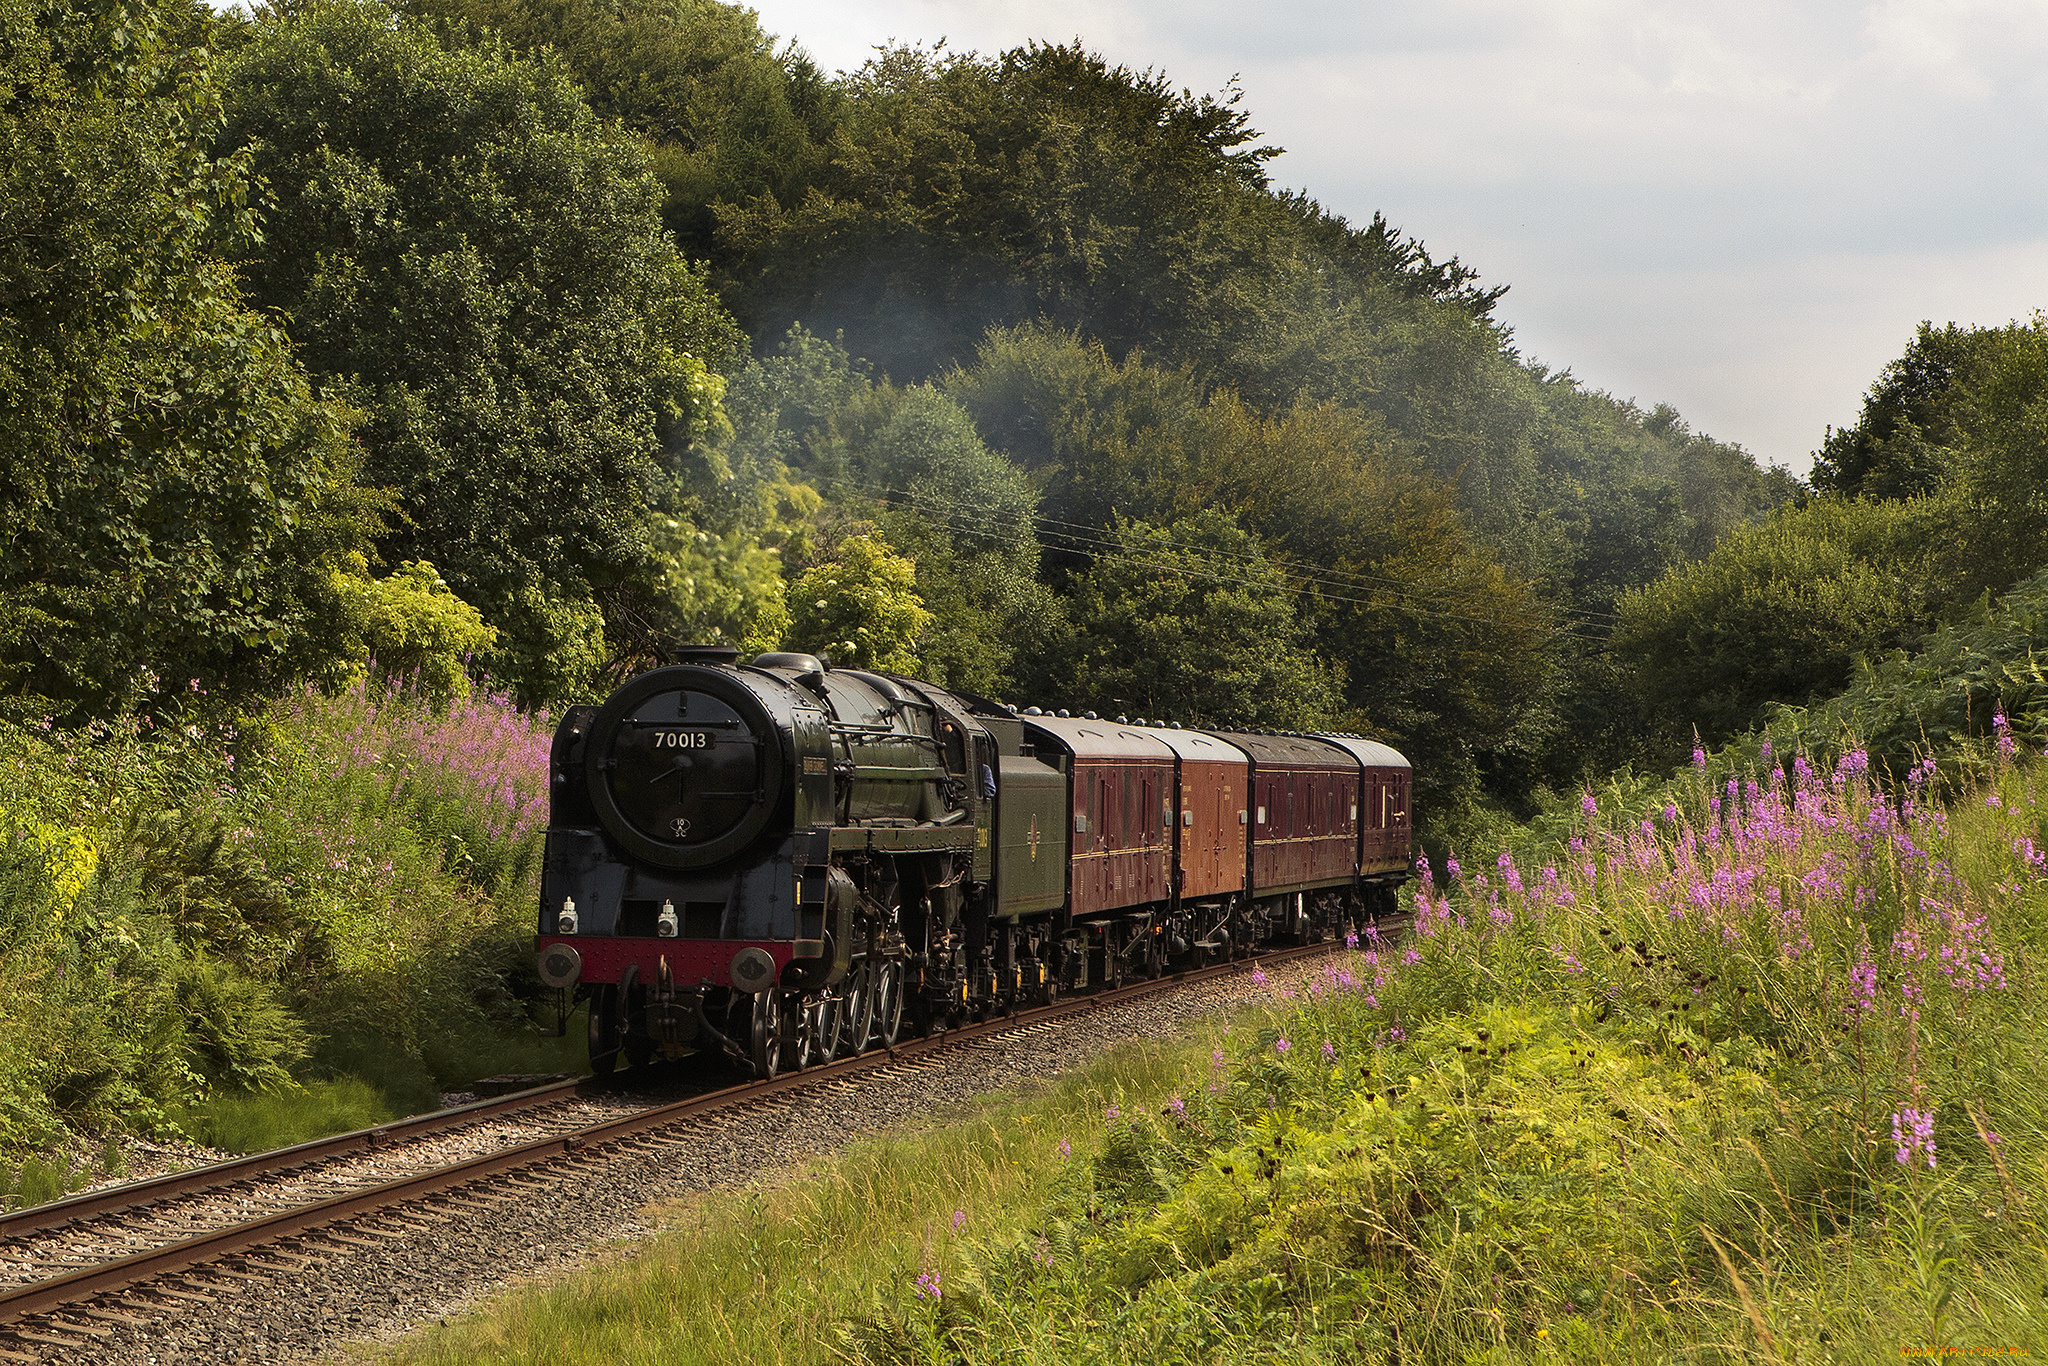
<svg viewBox="0 0 2048 1366"><path fill-rule="evenodd" d="M2044 768L1866 768L1587 797L1229 1042L705 1200L406 1360L2044 1354Z"/></svg>

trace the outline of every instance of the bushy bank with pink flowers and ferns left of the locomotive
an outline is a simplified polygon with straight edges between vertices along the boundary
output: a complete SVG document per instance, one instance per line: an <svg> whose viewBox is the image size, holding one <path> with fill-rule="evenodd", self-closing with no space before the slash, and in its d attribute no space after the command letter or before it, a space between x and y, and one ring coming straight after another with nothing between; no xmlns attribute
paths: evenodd
<svg viewBox="0 0 2048 1366"><path fill-rule="evenodd" d="M0 1149L348 1073L412 1112L559 1053L532 1020L545 719L367 678L240 727L207 702L0 723Z"/></svg>

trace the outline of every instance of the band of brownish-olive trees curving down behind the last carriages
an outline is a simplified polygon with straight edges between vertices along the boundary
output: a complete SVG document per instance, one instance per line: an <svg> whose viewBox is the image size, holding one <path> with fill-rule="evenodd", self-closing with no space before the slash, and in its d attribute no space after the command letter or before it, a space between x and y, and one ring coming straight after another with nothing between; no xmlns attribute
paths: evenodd
<svg viewBox="0 0 2048 1366"><path fill-rule="evenodd" d="M1116 362L1042 326L993 334L946 391L1044 487L1040 535L1071 575L1116 553L1118 516L1235 516L1303 586L1348 709L1430 756L1419 782L1438 811L1475 795L1483 756L1542 737L1548 612L1372 416L1313 403L1264 418L1188 369Z"/></svg>

